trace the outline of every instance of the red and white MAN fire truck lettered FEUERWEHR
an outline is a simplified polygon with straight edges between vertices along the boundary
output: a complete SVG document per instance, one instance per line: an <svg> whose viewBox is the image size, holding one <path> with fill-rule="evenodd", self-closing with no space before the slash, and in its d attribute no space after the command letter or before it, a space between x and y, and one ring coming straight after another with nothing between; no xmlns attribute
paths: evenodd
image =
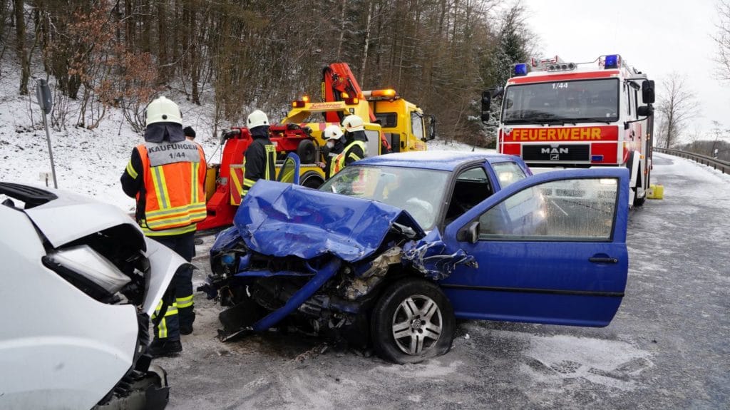
<svg viewBox="0 0 730 410"><path fill-rule="evenodd" d="M502 96L497 150L531 168L626 166L629 205L641 206L649 187L654 82L621 55L589 63L557 56L513 66L504 88L482 94L482 120Z"/></svg>

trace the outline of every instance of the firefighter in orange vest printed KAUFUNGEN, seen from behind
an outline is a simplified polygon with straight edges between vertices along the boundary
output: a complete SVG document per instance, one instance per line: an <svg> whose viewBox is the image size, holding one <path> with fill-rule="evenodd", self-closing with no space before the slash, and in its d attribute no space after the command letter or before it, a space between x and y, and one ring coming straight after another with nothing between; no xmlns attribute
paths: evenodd
<svg viewBox="0 0 730 410"><path fill-rule="evenodd" d="M137 199L136 219L145 236L190 262L196 223L206 216L205 155L198 144L185 139L182 114L173 101L155 98L146 115L145 142L132 150L120 179L122 189ZM153 357L181 352L180 333L192 333L192 279L192 266L181 268L158 303L152 317L155 340L147 350Z"/></svg>

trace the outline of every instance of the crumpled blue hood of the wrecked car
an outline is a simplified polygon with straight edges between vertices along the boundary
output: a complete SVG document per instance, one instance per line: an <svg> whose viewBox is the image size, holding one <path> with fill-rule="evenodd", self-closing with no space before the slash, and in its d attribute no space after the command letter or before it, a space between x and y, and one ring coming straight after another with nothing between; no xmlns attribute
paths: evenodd
<svg viewBox="0 0 730 410"><path fill-rule="evenodd" d="M402 209L368 199L259 180L234 217L246 246L264 255L356 262L372 255L393 223L423 229Z"/></svg>

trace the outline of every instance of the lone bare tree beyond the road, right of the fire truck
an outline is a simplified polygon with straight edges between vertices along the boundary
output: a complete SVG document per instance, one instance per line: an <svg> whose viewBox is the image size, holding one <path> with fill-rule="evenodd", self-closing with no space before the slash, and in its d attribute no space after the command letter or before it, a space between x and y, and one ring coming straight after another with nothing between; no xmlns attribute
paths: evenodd
<svg viewBox="0 0 730 410"><path fill-rule="evenodd" d="M690 120L696 117L699 110L697 99L683 74L669 74L662 88L656 107L661 121L657 142L669 148L680 142Z"/></svg>

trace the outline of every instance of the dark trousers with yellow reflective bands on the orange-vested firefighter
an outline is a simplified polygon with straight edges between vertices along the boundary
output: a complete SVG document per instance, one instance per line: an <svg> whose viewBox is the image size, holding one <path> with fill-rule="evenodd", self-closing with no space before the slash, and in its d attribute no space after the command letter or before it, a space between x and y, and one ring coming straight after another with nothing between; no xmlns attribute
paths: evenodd
<svg viewBox="0 0 730 410"><path fill-rule="evenodd" d="M195 256L195 232L183 233L180 235L155 236L155 241L164 244L171 250L177 252L183 259L190 262ZM157 339L180 339L180 326L192 326L195 320L193 312L193 267L180 268L172 278L168 287L169 293L174 293L174 298L164 298L158 303L153 323L155 325L155 338ZM167 305L164 317L157 321L163 304Z"/></svg>

